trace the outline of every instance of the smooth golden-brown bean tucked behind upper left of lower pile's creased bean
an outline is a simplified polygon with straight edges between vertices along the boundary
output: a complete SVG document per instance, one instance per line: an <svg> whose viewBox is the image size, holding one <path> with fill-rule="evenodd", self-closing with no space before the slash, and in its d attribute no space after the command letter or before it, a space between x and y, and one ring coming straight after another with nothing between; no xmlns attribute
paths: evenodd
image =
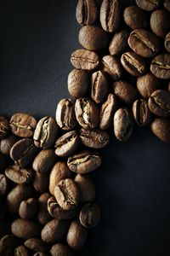
<svg viewBox="0 0 170 256"><path fill-rule="evenodd" d="M49 192L54 195L55 186L60 180L71 177L71 170L64 161L57 162L49 176Z"/></svg>

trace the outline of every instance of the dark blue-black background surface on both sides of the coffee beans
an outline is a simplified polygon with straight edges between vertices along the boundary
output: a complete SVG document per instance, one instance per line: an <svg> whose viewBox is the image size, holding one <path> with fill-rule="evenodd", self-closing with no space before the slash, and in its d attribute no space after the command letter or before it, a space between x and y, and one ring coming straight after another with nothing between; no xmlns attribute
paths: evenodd
<svg viewBox="0 0 170 256"><path fill-rule="evenodd" d="M133 1L123 1L133 3ZM0 1L0 114L55 115L80 47L76 0ZM102 219L80 255L170 255L170 145L150 128L112 136L92 175Z"/></svg>

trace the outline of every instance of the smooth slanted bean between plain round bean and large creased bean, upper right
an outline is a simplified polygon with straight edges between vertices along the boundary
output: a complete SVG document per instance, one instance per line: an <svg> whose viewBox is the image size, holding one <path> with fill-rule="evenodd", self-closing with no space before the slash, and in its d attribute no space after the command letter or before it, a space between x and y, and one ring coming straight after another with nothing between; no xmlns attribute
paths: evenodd
<svg viewBox="0 0 170 256"><path fill-rule="evenodd" d="M109 45L109 52L111 55L120 55L125 49L127 49L127 38L129 32L124 29L120 32L116 32Z"/></svg>

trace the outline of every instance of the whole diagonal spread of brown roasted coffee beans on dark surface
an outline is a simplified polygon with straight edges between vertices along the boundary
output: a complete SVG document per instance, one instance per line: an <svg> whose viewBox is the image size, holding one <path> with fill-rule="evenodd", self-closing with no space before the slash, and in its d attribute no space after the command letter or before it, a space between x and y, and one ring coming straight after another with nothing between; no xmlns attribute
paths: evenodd
<svg viewBox="0 0 170 256"><path fill-rule="evenodd" d="M56 116L0 117L0 255L74 255L100 208L89 172L110 132L150 125L170 142L170 2L79 0L82 49L71 54L72 99ZM109 130L108 130L109 129ZM99 151L100 150L100 151Z"/></svg>

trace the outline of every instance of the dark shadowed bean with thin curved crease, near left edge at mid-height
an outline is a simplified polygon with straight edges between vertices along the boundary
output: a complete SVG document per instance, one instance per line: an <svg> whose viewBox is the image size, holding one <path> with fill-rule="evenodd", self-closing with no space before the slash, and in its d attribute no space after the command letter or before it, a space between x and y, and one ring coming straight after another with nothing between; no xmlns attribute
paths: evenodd
<svg viewBox="0 0 170 256"><path fill-rule="evenodd" d="M22 167L30 166L37 154L37 148L30 138L24 138L14 143L10 150L10 157Z"/></svg>

